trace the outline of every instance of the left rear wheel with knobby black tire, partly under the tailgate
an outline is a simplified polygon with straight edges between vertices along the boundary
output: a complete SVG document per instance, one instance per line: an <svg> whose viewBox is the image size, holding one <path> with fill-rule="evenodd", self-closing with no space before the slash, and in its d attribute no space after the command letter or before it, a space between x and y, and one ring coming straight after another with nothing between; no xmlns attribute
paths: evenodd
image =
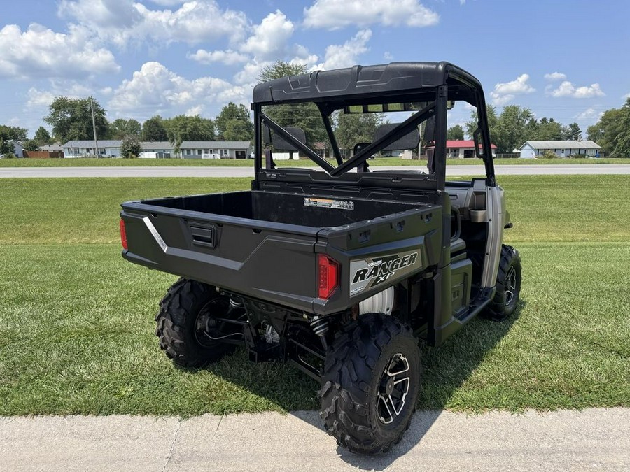
<svg viewBox="0 0 630 472"><path fill-rule="evenodd" d="M176 364L202 367L235 348L219 341L232 334L226 335L215 318L237 317L239 310L242 308L232 306L228 296L218 294L215 287L181 278L160 301L155 336L160 338L160 348Z"/></svg>

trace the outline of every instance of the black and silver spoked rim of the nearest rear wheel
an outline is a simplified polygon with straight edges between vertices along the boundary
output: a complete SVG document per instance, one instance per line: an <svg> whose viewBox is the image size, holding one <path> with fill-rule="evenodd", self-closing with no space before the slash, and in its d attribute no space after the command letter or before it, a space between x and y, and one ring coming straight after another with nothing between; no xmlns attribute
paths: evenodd
<svg viewBox="0 0 630 472"><path fill-rule="evenodd" d="M384 424L394 422L405 409L411 384L409 373L407 357L397 353L389 359L379 382L377 399L377 413Z"/></svg>

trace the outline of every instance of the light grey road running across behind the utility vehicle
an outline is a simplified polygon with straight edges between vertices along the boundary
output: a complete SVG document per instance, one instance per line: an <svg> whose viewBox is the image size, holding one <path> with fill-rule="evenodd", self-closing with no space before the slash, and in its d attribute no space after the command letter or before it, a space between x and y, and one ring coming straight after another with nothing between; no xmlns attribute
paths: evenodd
<svg viewBox="0 0 630 472"><path fill-rule="evenodd" d="M412 170L381 166L374 171ZM418 169L423 169L419 167ZM496 166L499 176L630 174L630 164L542 164ZM481 176L482 166L447 166L449 176ZM252 167L1 167L0 178L17 177L253 177Z"/></svg>

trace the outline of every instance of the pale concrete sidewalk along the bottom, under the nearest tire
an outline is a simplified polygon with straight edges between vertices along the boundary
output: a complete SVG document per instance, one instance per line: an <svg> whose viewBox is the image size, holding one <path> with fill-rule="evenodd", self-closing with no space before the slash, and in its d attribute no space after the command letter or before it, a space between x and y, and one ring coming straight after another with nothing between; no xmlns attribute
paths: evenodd
<svg viewBox="0 0 630 472"><path fill-rule="evenodd" d="M315 412L2 417L2 471L629 471L630 409L423 411L388 455L337 448Z"/></svg>

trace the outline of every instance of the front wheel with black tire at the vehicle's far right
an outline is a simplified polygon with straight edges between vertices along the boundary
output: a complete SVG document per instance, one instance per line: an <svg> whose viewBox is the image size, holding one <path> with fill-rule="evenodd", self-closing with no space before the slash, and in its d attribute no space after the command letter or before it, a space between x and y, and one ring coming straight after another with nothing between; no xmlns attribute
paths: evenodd
<svg viewBox="0 0 630 472"><path fill-rule="evenodd" d="M512 246L501 247L501 259L496 276L496 292L486 317L503 321L516 310L521 294L521 257Z"/></svg>

